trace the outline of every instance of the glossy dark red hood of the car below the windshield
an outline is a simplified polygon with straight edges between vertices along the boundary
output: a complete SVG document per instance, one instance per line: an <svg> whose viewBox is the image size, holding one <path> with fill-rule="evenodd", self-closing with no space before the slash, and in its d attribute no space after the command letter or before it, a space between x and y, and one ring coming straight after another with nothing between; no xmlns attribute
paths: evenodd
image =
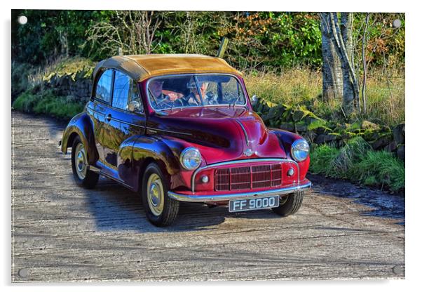
<svg viewBox="0 0 422 292"><path fill-rule="evenodd" d="M286 158L277 136L245 107L193 107L151 114L149 133L198 147L207 164L247 158Z"/></svg>

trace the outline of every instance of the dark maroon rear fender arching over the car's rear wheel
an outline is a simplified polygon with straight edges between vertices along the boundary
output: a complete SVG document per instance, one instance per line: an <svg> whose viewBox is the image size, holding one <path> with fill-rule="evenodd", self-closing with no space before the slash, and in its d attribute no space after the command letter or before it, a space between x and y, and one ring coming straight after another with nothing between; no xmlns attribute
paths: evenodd
<svg viewBox="0 0 422 292"><path fill-rule="evenodd" d="M81 138L83 145L88 153L88 162L94 165L98 160L97 147L95 147L94 126L86 112L81 112L73 117L62 135L62 152L67 153L67 148L72 147L76 136Z"/></svg>

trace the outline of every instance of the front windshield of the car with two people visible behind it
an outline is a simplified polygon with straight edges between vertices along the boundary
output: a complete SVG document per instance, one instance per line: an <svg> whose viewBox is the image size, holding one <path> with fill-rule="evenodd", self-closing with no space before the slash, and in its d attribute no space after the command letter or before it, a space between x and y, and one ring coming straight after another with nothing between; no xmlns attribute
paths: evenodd
<svg viewBox="0 0 422 292"><path fill-rule="evenodd" d="M184 74L156 77L148 83L154 110L210 105L246 105L238 79L224 74Z"/></svg>

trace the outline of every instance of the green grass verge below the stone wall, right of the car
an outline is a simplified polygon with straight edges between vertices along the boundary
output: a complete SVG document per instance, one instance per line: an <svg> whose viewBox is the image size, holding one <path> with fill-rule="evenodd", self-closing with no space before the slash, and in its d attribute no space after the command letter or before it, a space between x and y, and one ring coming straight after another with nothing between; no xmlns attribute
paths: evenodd
<svg viewBox="0 0 422 292"><path fill-rule="evenodd" d="M390 152L372 150L361 137L350 139L340 149L329 145L315 147L309 170L395 192L404 190L404 162Z"/></svg>

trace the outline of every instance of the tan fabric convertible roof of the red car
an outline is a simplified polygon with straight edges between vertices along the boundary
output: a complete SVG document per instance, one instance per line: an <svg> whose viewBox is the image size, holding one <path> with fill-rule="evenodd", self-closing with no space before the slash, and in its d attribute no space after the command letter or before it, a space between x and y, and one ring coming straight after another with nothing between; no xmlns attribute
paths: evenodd
<svg viewBox="0 0 422 292"><path fill-rule="evenodd" d="M116 55L97 64L94 78L102 69L118 69L132 79L142 81L149 77L183 73L229 73L241 75L225 60L207 55Z"/></svg>

